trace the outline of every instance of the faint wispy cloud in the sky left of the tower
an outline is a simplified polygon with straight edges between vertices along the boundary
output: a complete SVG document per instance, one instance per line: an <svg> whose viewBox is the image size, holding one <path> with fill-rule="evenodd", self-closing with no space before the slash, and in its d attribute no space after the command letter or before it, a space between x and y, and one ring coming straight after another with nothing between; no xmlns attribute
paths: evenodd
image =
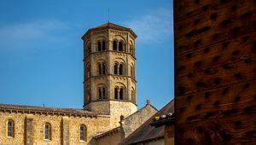
<svg viewBox="0 0 256 145"><path fill-rule="evenodd" d="M59 20L34 20L0 26L0 51L15 52L61 44L69 25Z"/></svg>

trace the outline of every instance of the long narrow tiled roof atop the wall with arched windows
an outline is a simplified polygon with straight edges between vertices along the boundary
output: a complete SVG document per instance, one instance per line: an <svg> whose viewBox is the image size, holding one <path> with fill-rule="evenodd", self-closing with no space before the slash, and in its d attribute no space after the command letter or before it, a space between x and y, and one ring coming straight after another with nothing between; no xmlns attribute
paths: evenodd
<svg viewBox="0 0 256 145"><path fill-rule="evenodd" d="M39 107L27 105L0 104L0 110L25 113L55 113L55 114L77 114L77 115L98 115L84 109L63 108L63 107Z"/></svg>

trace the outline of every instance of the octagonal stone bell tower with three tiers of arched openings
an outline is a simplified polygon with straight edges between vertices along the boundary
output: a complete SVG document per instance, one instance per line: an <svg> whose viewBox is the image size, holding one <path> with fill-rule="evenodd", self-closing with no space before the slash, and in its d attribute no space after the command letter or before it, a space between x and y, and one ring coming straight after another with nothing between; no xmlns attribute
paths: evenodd
<svg viewBox="0 0 256 145"><path fill-rule="evenodd" d="M111 126L137 111L137 35L106 23L90 28L84 40L84 109L110 115Z"/></svg>

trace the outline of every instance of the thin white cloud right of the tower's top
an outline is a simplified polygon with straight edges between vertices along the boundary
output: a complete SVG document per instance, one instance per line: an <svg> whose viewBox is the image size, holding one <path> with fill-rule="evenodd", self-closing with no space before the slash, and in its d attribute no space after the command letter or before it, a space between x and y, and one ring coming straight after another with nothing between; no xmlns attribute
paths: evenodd
<svg viewBox="0 0 256 145"><path fill-rule="evenodd" d="M124 22L137 33L139 43L157 42L172 36L172 9L156 9Z"/></svg>

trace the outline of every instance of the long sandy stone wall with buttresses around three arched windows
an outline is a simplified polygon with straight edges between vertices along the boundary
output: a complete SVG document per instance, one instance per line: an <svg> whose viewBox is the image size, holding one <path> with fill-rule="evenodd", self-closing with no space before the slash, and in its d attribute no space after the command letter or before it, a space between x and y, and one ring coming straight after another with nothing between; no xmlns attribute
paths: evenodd
<svg viewBox="0 0 256 145"><path fill-rule="evenodd" d="M7 122L15 122L15 136L7 136ZM51 125L51 138L44 140L44 124ZM87 138L79 141L79 127L85 125ZM90 144L92 136L109 130L109 116L62 116L0 112L0 144Z"/></svg>

